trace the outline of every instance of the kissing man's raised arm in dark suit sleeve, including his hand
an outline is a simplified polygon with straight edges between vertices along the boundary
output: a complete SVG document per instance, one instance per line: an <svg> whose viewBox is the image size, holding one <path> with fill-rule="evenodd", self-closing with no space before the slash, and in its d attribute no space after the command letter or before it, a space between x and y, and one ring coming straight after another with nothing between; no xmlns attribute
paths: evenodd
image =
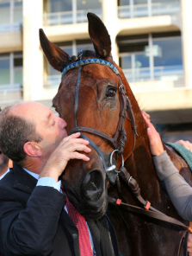
<svg viewBox="0 0 192 256"><path fill-rule="evenodd" d="M61 141L46 162L40 178L52 177L58 182L70 159L89 161L89 157L77 152L90 152L89 142L79 136L78 132ZM1 186L0 242L3 240L6 256L49 255L64 203L65 195L57 189L39 185L30 195L26 208L12 189Z"/></svg>

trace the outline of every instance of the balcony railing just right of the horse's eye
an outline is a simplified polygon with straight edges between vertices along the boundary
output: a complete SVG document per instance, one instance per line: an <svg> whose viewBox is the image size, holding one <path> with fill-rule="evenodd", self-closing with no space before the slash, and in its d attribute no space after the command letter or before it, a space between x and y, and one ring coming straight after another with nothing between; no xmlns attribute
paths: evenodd
<svg viewBox="0 0 192 256"><path fill-rule="evenodd" d="M128 82L147 80L178 80L183 76L183 66L123 69Z"/></svg>

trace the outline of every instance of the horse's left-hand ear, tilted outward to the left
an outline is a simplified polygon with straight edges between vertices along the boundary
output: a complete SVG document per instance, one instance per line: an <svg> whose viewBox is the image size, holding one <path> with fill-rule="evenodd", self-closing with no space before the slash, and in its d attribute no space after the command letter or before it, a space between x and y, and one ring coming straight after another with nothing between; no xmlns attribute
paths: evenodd
<svg viewBox="0 0 192 256"><path fill-rule="evenodd" d="M40 29L40 46L43 49L46 59L54 69L62 72L63 69L70 64L71 58L53 42L50 42L46 37L43 29Z"/></svg>

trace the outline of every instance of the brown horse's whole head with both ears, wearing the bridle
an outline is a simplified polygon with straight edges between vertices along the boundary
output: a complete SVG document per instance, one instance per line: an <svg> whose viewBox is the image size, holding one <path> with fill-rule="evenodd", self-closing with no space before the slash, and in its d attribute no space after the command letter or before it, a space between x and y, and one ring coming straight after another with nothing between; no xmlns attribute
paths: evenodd
<svg viewBox="0 0 192 256"><path fill-rule="evenodd" d="M80 214L98 219L108 206L109 156L116 145L121 144L122 148L126 142L123 120L127 98L121 86L120 68L118 71L114 67L110 54L108 31L94 14L88 14L88 19L96 51L84 50L77 57L70 57L49 42L41 29L40 44L50 64L63 73L53 106L66 120L68 133L81 131L83 138L91 140L90 161L71 160L65 169L64 186Z"/></svg>

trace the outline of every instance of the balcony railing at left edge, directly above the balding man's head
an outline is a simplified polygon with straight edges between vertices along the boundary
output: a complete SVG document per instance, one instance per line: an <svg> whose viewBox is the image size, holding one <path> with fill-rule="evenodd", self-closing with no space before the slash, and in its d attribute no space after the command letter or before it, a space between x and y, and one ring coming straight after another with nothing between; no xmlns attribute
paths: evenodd
<svg viewBox="0 0 192 256"><path fill-rule="evenodd" d="M9 102L22 99L22 85L0 85L0 102Z"/></svg>

